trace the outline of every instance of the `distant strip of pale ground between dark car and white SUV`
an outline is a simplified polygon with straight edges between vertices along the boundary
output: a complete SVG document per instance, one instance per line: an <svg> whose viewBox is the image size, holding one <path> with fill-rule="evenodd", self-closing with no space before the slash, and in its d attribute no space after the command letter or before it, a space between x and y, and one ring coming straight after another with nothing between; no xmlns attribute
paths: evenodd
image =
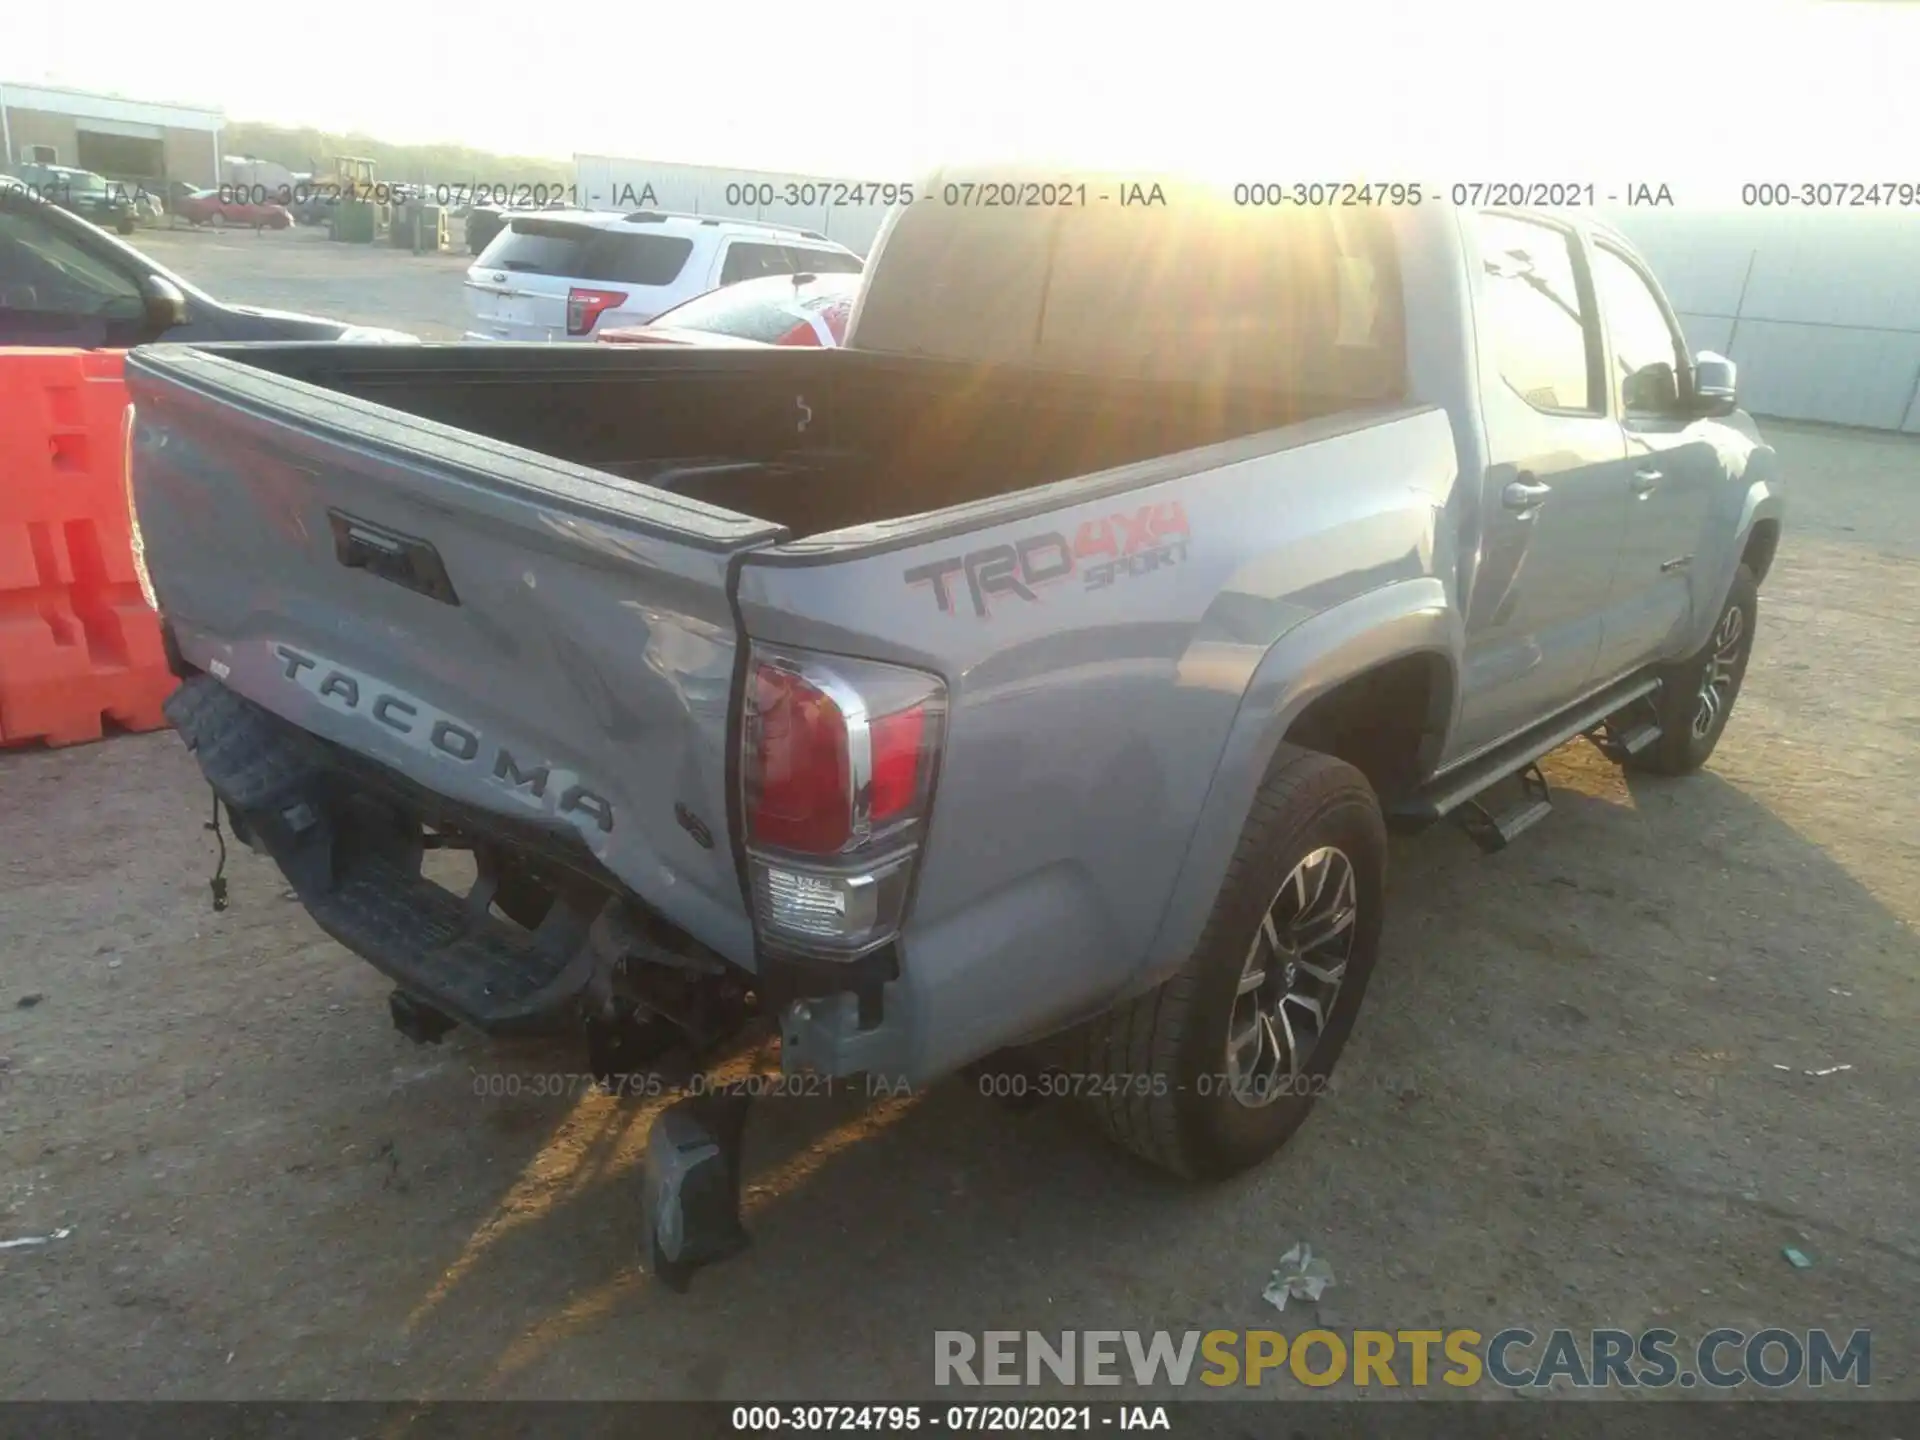
<svg viewBox="0 0 1920 1440"><path fill-rule="evenodd" d="M292 230L140 228L129 244L236 305L298 309L355 324L459 340L467 324L461 278L472 257L453 223L455 250L415 255L388 246L342 246L319 227Z"/></svg>

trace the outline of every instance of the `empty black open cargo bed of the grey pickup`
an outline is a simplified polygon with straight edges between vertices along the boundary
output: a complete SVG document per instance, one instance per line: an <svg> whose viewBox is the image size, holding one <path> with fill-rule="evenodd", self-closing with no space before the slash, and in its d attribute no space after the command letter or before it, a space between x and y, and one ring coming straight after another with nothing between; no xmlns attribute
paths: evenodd
<svg viewBox="0 0 1920 1440"><path fill-rule="evenodd" d="M766 520L801 540L1331 415L1277 388L862 351L209 348L303 386ZM294 399L286 388L282 396ZM432 444L434 430L420 430Z"/></svg>

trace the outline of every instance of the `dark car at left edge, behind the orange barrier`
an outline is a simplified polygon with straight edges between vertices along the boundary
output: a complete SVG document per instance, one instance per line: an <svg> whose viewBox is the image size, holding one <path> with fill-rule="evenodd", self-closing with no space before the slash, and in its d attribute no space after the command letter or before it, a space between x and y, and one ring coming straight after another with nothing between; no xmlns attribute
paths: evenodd
<svg viewBox="0 0 1920 1440"><path fill-rule="evenodd" d="M127 349L161 336L415 338L319 315L228 305L31 188L0 186L0 346Z"/></svg>

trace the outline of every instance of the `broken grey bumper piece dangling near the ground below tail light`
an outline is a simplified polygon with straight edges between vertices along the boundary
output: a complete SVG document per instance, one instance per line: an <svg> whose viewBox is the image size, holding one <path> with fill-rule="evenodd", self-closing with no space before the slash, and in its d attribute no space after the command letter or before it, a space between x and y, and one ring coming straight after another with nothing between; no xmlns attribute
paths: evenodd
<svg viewBox="0 0 1920 1440"><path fill-rule="evenodd" d="M749 1244L739 1219L747 1104L743 1091L680 1100L655 1117L647 1135L641 1177L647 1269L676 1294L687 1292L693 1271Z"/></svg>

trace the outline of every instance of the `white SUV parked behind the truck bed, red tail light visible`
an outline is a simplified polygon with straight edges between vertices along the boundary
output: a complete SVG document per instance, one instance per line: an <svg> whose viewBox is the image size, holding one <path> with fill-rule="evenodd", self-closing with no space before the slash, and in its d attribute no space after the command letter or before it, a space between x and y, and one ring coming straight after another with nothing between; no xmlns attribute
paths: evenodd
<svg viewBox="0 0 1920 1440"><path fill-rule="evenodd" d="M762 275L860 271L845 246L787 225L601 211L513 215L467 271L468 340L591 340Z"/></svg>

